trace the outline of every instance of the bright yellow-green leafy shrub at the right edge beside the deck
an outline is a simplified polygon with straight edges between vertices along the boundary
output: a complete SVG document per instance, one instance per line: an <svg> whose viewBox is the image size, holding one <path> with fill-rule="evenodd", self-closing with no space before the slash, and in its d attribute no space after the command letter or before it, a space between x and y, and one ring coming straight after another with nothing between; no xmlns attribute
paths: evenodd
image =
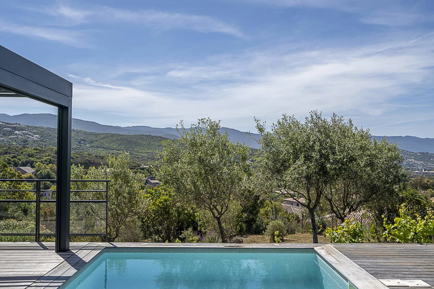
<svg viewBox="0 0 434 289"><path fill-rule="evenodd" d="M416 214L416 219L408 215L407 205L399 208L399 217L395 218L395 224L387 224L384 218L383 225L386 231L383 237L388 241L398 243L432 243L434 240L434 213L428 211L422 218Z"/></svg>

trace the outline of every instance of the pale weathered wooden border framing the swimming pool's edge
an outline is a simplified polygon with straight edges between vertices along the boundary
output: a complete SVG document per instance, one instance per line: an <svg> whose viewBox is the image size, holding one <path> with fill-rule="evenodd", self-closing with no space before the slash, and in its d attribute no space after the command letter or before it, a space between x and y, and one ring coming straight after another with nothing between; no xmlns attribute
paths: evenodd
<svg viewBox="0 0 434 289"><path fill-rule="evenodd" d="M221 243L89 243L76 254L69 257L53 270L36 280L27 288L63 288L73 279L72 275L84 267L90 266L97 259L97 255L104 253L105 249L115 248L286 248L286 249L310 249L328 263L341 276L349 281L357 289L387 289L374 276L366 272L344 254L330 244L221 244ZM112 251L112 250L109 250ZM85 266L87 265L87 266Z"/></svg>

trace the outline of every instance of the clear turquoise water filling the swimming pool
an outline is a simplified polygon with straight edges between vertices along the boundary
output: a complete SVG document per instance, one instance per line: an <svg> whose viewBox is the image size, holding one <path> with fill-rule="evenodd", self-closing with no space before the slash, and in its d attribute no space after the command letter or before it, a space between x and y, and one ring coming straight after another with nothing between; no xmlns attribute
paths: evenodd
<svg viewBox="0 0 434 289"><path fill-rule="evenodd" d="M348 289L348 282L314 252L193 252L103 253L66 288Z"/></svg>

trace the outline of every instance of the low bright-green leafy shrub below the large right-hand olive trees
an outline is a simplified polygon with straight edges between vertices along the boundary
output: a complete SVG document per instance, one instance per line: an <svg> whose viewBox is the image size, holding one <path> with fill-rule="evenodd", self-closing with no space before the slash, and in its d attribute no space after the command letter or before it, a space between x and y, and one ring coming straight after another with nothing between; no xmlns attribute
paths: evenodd
<svg viewBox="0 0 434 289"><path fill-rule="evenodd" d="M364 234L362 224L358 221L345 220L338 227L327 228L325 236L330 237L333 243L363 243Z"/></svg>

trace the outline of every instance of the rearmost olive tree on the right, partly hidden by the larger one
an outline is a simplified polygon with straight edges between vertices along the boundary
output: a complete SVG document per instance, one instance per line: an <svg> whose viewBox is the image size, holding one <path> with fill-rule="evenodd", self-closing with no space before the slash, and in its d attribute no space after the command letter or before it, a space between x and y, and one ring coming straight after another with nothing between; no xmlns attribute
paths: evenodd
<svg viewBox="0 0 434 289"><path fill-rule="evenodd" d="M324 198L343 222L370 202L389 200L405 177L397 143L372 141L369 131L353 127L351 120L334 137L340 164Z"/></svg>

